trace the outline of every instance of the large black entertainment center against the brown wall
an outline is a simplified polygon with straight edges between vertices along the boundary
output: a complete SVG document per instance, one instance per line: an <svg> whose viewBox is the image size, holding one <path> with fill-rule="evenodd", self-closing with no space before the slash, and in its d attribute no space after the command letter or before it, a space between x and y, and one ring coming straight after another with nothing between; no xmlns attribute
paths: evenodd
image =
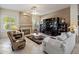
<svg viewBox="0 0 79 59"><path fill-rule="evenodd" d="M43 19L40 24L40 32L51 36L60 35L61 32L67 32L67 23L64 18L55 17Z"/></svg>

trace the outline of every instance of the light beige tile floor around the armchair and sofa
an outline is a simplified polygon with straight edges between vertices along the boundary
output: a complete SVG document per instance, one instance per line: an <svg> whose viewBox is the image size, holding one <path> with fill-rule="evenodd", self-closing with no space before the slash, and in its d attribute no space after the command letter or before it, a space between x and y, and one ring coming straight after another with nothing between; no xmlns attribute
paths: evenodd
<svg viewBox="0 0 79 59"><path fill-rule="evenodd" d="M0 54L44 54L42 45L38 45L26 38L26 46L22 50L12 51L10 40L0 39ZM72 54L79 54L79 43L76 44Z"/></svg>

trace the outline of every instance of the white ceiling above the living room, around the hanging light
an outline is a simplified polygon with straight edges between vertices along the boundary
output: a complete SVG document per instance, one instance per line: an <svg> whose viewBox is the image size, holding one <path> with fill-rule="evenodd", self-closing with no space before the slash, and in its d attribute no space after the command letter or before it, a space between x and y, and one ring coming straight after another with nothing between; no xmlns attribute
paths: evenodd
<svg viewBox="0 0 79 59"><path fill-rule="evenodd" d="M39 15L55 12L57 10L67 8L69 4L1 4L1 8L11 9L22 12L31 12L33 6L36 6L36 11Z"/></svg>

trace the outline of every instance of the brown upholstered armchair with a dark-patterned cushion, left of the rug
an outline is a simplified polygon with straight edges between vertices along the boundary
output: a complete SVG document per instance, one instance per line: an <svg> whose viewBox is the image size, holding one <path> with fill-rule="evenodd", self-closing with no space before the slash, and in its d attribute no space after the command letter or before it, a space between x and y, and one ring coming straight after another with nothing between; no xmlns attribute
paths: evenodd
<svg viewBox="0 0 79 59"><path fill-rule="evenodd" d="M16 33L15 31L8 31L8 37L11 41L12 50L18 50L25 47L26 40L22 32Z"/></svg>

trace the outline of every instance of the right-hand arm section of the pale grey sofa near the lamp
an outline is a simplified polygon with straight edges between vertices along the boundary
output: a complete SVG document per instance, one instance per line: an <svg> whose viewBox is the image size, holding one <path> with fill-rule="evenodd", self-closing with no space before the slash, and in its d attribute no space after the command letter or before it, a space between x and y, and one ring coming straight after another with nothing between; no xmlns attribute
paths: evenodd
<svg viewBox="0 0 79 59"><path fill-rule="evenodd" d="M76 35L72 34L69 38L67 38L63 42L65 53L71 53L72 52L73 48L75 47L75 38L76 38Z"/></svg>

